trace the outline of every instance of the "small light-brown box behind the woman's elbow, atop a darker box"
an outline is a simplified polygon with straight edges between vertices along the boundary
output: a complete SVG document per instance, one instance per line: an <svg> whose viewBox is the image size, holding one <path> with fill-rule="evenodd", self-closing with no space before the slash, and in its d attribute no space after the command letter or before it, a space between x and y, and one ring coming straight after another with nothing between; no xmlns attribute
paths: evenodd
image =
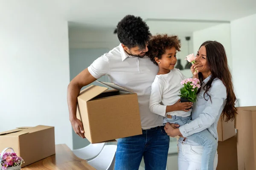
<svg viewBox="0 0 256 170"><path fill-rule="evenodd" d="M235 121L225 122L225 118L218 120L217 125L218 141L225 141L236 135Z"/></svg>

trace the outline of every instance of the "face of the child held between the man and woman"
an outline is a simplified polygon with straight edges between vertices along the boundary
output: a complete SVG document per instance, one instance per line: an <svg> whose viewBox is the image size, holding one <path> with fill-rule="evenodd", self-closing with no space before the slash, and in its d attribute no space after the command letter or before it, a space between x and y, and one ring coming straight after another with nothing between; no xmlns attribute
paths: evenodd
<svg viewBox="0 0 256 170"><path fill-rule="evenodd" d="M169 49L166 49L165 54L162 55L161 59L155 58L159 68L163 70L172 70L175 67L175 64L177 62L176 58L176 48L172 47Z"/></svg>

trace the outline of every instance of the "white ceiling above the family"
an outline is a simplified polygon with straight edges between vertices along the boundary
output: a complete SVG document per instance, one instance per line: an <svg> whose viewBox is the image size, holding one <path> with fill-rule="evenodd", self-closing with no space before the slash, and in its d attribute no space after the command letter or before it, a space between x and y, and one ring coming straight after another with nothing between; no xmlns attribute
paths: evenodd
<svg viewBox="0 0 256 170"><path fill-rule="evenodd" d="M57 2L57 1L56 1ZM232 21L256 13L256 0L58 0L63 14L87 27L115 28L127 14L144 20ZM212 24L213 24L212 23ZM150 25L150 23L148 23Z"/></svg>

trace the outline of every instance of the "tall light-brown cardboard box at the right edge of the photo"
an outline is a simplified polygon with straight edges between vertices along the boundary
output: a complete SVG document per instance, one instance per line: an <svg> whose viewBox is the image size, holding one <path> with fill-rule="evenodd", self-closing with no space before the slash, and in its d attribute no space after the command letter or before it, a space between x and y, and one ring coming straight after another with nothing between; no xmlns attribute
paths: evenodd
<svg viewBox="0 0 256 170"><path fill-rule="evenodd" d="M256 106L237 108L237 157L239 170L256 170Z"/></svg>

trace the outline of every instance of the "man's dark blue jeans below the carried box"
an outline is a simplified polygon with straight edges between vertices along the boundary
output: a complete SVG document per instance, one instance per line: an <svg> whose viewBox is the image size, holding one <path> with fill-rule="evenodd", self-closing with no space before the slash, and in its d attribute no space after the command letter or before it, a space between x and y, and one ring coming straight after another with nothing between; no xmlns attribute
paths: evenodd
<svg viewBox="0 0 256 170"><path fill-rule="evenodd" d="M115 170L138 170L142 157L145 170L166 170L170 138L164 126L142 130L142 133L118 139Z"/></svg>

